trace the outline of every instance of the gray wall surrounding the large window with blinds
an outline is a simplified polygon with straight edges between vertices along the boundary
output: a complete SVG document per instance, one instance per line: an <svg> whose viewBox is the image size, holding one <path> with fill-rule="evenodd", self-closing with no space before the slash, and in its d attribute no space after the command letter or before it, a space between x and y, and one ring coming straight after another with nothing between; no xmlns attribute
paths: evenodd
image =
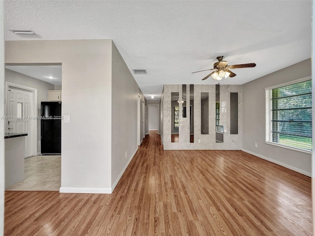
<svg viewBox="0 0 315 236"><path fill-rule="evenodd" d="M308 76L311 59L242 85L242 150L310 176L311 154L265 144L265 88Z"/></svg>

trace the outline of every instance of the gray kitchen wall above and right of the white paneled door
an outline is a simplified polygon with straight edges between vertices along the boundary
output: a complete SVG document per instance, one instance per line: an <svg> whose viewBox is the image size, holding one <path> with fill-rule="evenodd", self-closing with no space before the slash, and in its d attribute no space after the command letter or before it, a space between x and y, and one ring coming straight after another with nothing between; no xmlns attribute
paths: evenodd
<svg viewBox="0 0 315 236"><path fill-rule="evenodd" d="M54 90L55 86L47 82L37 80L27 75L5 69L5 82L23 85L37 89L37 116L40 116L40 102L48 101L48 90ZM37 120L37 153L40 152L40 119Z"/></svg>

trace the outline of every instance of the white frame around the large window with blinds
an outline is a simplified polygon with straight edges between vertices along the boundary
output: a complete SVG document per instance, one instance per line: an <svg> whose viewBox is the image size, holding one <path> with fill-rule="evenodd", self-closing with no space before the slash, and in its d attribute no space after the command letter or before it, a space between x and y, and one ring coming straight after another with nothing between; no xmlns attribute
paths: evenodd
<svg viewBox="0 0 315 236"><path fill-rule="evenodd" d="M286 148L286 149L291 149L291 150L295 150L295 151L300 151L300 152L304 152L304 153L308 153L308 154L313 152L313 150L304 149L304 148L297 148L297 147L288 146L288 145L269 141L270 140L270 137L269 137L270 131L272 129L272 105L270 104L269 91L271 89L277 89L280 87L284 87L284 86L288 86L288 85L292 85L292 84L296 84L296 83L300 83L300 82L305 82L308 80L312 80L312 77L308 76L308 77L304 77L304 78L301 78L298 80L294 80L294 81L290 81L290 82L286 82L283 84L279 84L279 85L265 88L265 98L266 98L266 101L265 101L265 106L266 106L266 111L265 111L266 112L266 114L265 114L265 118L266 118L266 120L265 120L266 121L266 124L265 124L265 144L277 146L277 147L281 147L281 148ZM313 84L313 81L312 81L312 84ZM313 85L312 85L312 87L313 87ZM313 97L313 91L312 91L312 97ZM312 100L313 100L313 98L312 98ZM313 104L312 104L312 109L313 109ZM313 126L312 126L312 130L313 130ZM313 149L313 147L312 147L312 149Z"/></svg>

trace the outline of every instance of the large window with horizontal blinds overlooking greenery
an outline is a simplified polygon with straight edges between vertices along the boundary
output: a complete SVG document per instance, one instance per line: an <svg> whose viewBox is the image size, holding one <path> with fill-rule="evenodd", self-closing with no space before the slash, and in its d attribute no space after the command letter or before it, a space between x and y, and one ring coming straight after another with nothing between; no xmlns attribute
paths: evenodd
<svg viewBox="0 0 315 236"><path fill-rule="evenodd" d="M266 142L312 150L312 80L266 89Z"/></svg>

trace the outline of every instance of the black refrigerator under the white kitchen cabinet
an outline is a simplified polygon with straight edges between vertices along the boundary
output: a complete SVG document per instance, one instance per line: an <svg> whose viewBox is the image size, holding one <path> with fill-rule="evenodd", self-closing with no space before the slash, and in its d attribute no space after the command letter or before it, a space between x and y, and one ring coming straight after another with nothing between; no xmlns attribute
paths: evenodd
<svg viewBox="0 0 315 236"><path fill-rule="evenodd" d="M41 102L40 115L41 154L61 154L61 102Z"/></svg>

